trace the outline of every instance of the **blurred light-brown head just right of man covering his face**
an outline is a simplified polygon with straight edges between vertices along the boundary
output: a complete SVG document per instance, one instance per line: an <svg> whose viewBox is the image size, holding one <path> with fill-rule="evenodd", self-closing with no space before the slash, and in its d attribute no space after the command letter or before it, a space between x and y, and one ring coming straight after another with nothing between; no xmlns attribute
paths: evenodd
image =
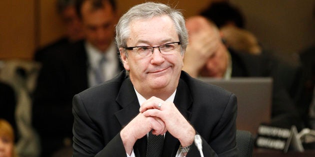
<svg viewBox="0 0 315 157"><path fill-rule="evenodd" d="M261 47L251 32L235 26L224 26L220 28L220 32L227 47L237 52L254 55L261 53Z"/></svg>

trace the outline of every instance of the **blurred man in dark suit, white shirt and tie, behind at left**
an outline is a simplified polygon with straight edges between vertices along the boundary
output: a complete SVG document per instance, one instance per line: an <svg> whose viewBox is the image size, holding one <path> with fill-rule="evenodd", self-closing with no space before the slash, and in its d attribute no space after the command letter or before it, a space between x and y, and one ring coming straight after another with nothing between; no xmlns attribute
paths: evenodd
<svg viewBox="0 0 315 157"><path fill-rule="evenodd" d="M49 52L33 96L33 126L41 138L42 157L72 143L72 97L113 78L122 66L114 44L114 0L77 0L85 39Z"/></svg>

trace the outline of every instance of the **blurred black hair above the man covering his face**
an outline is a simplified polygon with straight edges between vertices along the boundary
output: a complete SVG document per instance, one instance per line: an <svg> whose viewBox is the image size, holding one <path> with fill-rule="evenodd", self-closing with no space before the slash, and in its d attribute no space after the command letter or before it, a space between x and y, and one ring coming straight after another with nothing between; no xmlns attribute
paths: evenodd
<svg viewBox="0 0 315 157"><path fill-rule="evenodd" d="M234 25L244 27L244 19L240 10L227 1L211 2L200 15L212 20L217 27Z"/></svg>

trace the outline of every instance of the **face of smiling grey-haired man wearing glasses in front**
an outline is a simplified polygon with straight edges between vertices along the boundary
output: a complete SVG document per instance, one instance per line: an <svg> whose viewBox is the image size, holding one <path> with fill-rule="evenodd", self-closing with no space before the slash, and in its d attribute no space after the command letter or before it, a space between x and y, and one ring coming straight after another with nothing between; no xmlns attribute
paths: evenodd
<svg viewBox="0 0 315 157"><path fill-rule="evenodd" d="M133 20L129 24L130 35L127 46L159 46L169 42L179 41L171 19L155 16L151 19ZM180 71L183 66L181 47L177 46L172 54L161 54L154 48L153 54L143 58L132 50L127 50L128 56L119 49L124 68L129 71L130 80L135 89L144 93L154 91L174 90L178 85ZM171 91L173 92L173 91Z"/></svg>

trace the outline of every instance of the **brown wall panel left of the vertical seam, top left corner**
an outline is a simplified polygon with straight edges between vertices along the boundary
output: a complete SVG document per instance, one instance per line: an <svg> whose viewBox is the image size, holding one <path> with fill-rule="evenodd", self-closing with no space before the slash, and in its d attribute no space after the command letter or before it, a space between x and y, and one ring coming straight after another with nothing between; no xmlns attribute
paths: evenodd
<svg viewBox="0 0 315 157"><path fill-rule="evenodd" d="M34 0L0 0L0 59L29 58L34 49Z"/></svg>

